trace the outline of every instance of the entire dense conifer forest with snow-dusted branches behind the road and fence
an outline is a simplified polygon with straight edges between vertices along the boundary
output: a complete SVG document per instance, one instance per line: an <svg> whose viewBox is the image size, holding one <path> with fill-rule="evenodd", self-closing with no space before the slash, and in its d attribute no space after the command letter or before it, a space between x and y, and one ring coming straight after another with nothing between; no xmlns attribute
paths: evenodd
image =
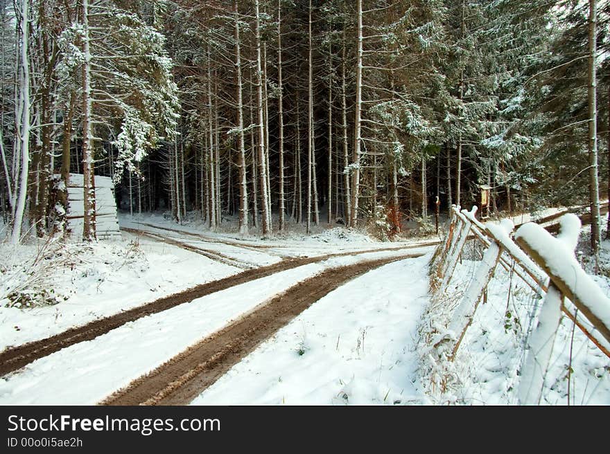
<svg viewBox="0 0 610 454"><path fill-rule="evenodd" d="M610 143L610 1L0 0L0 199L64 228L66 180L268 235L590 204ZM394 225L394 227L396 227ZM249 230L250 229L250 230Z"/></svg>

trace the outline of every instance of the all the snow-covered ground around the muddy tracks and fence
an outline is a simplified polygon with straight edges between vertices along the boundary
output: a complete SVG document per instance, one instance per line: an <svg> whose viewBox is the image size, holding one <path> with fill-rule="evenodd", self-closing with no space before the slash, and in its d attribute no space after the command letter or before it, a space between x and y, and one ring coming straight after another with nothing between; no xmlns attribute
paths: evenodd
<svg viewBox="0 0 610 454"><path fill-rule="evenodd" d="M96 403L324 269L397 256L406 245L420 244L410 249L414 253L433 247L421 239L375 242L342 228L320 230L311 237L293 233L259 239L215 233L198 224L177 226L160 216L123 216L121 225L157 236L124 232L122 241L87 246L0 245L0 349L242 271L163 239L248 266L287 257L375 252L333 257L246 282L64 348L1 377L0 403ZM602 271L610 275L610 242L603 246ZM396 250L383 251L387 248ZM509 272L498 268L487 302L480 305L455 361L434 365L426 356L429 345L422 327L431 318L440 323L451 314L479 264L478 254L465 250L452 281L453 298L442 307L429 304L429 256L393 262L348 282L234 365L193 404L516 403L524 345L540 300ZM31 281L23 280L28 269L38 273ZM610 279L594 279L610 295ZM42 298L44 282L53 294ZM23 295L21 308L7 307L10 298L15 301L14 295L9 298L15 291ZM27 307L41 298L60 302ZM564 405L568 394L573 404L609 405L610 361L564 317L543 403Z"/></svg>

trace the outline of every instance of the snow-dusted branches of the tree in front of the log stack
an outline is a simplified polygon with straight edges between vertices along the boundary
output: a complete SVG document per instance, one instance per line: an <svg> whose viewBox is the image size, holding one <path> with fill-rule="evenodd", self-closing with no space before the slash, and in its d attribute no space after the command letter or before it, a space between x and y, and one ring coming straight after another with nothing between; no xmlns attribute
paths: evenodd
<svg viewBox="0 0 610 454"><path fill-rule="evenodd" d="M135 163L159 140L175 137L177 86L162 33L110 1L96 2L94 10L89 18L92 113L96 118L110 116L110 125L118 123L112 140L119 151L113 175L118 183L124 169L136 172ZM75 22L60 35L58 74L73 80L63 86L67 91L80 81L83 33L82 24Z"/></svg>

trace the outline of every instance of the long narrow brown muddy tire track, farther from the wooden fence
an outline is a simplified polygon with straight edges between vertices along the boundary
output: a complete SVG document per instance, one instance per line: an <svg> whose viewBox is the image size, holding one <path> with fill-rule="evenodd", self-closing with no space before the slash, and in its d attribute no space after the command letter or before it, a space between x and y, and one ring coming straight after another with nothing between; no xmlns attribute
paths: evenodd
<svg viewBox="0 0 610 454"><path fill-rule="evenodd" d="M406 246L405 249L420 247L424 246L418 244L414 246ZM167 309L171 309L177 305L189 303L197 298L207 296L211 293L216 293L217 291L229 289L230 287L244 284L245 282L250 282L252 280L265 278L266 276L274 273L297 268L297 266L322 262L323 260L333 257L360 255L364 253L374 253L387 250L395 251L396 249L375 249L370 251L359 251L356 253L335 253L317 257L288 258L282 262L269 266L248 269L236 275L228 276L227 278L207 282L206 284L200 284L195 287L191 287L190 289L164 296L163 298L159 298L153 302L148 302L144 305L128 309L120 312L119 314L100 318L98 320L89 322L86 325L67 329L67 331L55 334L54 336L50 336L48 338L40 339L39 341L18 345L17 347L8 347L7 349L4 349L3 352L0 352L0 376L14 372L32 361L44 356L48 356L54 352L58 352L60 349L69 347L70 345L84 341L91 341L97 336L101 336L107 332L110 332L112 329L125 325L125 323L166 311Z"/></svg>

